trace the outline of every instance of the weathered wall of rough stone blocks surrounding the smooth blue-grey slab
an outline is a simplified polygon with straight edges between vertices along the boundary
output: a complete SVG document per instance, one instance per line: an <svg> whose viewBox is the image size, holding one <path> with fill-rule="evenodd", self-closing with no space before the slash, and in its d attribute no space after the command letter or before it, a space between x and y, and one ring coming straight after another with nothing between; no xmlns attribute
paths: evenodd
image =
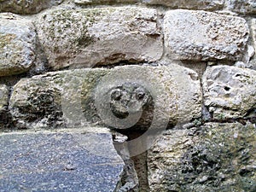
<svg viewBox="0 0 256 192"><path fill-rule="evenodd" d="M127 136L117 191L255 191L255 15L254 0L0 0L0 130Z"/></svg>

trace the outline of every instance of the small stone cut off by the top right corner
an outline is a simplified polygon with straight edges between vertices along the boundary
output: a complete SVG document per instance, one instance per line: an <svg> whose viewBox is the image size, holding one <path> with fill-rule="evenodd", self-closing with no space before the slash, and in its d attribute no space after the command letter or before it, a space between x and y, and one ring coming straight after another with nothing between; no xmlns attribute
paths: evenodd
<svg viewBox="0 0 256 192"><path fill-rule="evenodd" d="M241 14L256 14L255 0L226 0L227 9Z"/></svg>

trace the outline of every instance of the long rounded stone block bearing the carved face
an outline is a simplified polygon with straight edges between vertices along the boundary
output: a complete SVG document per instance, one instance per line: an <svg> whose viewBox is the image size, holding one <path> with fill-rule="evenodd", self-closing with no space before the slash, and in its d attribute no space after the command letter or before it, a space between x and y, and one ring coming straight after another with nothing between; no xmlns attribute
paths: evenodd
<svg viewBox="0 0 256 192"><path fill-rule="evenodd" d="M115 90L120 91L113 98ZM148 127L154 121L167 126L169 121L201 116L201 87L197 73L174 63L78 69L21 79L10 110L19 128L52 127L64 121L103 121L118 129Z"/></svg>

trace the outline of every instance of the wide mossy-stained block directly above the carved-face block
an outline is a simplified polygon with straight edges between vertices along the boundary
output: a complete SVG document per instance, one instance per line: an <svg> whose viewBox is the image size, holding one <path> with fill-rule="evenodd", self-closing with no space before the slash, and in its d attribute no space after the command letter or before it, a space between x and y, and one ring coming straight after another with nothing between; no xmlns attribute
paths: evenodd
<svg viewBox="0 0 256 192"><path fill-rule="evenodd" d="M162 38L155 9L50 10L35 21L49 67L91 67L118 61L156 61Z"/></svg>

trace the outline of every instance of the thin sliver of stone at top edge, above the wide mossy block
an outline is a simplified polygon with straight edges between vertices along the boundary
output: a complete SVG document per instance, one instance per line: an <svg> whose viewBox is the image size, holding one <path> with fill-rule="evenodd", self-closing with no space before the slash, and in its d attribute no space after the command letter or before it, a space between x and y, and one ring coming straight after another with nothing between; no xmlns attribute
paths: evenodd
<svg viewBox="0 0 256 192"><path fill-rule="evenodd" d="M111 4L111 3L138 3L141 0L74 0L74 3L80 5L89 4Z"/></svg>

